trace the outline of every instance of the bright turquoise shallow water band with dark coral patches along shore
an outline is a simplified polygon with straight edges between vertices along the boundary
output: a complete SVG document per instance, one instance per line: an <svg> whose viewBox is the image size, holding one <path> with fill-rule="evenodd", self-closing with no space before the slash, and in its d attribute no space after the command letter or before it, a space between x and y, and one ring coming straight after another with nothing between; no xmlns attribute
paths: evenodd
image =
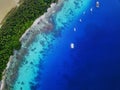
<svg viewBox="0 0 120 90"><path fill-rule="evenodd" d="M42 70L40 63L46 62L45 57L47 58L50 50L54 45L57 45L61 37L60 34L64 31L63 28L66 27L67 23L73 23L76 17L88 8L89 4L90 0L64 1L62 9L52 17L54 30L47 34L41 33L36 35L33 42L27 47L28 53L24 55L24 62L19 68L19 76L14 85L14 90L31 90L31 84L36 84L35 77L37 77L38 72ZM39 25L36 25L34 29L37 27L39 27Z"/></svg>

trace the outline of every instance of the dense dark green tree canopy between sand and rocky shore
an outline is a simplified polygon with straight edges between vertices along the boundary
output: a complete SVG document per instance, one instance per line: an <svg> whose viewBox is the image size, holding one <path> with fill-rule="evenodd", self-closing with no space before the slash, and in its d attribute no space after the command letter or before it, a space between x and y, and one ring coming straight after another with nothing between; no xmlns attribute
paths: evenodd
<svg viewBox="0 0 120 90"><path fill-rule="evenodd" d="M10 55L14 49L20 48L19 38L34 20L47 11L56 0L22 0L0 28L0 80Z"/></svg>

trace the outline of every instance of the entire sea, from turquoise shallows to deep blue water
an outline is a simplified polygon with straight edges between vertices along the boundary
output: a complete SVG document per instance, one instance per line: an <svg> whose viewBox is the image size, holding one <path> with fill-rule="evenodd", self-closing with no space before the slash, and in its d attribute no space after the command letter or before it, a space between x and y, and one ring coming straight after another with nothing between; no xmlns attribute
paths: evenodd
<svg viewBox="0 0 120 90"><path fill-rule="evenodd" d="M53 30L27 47L13 90L120 89L120 1L99 2L64 1Z"/></svg>

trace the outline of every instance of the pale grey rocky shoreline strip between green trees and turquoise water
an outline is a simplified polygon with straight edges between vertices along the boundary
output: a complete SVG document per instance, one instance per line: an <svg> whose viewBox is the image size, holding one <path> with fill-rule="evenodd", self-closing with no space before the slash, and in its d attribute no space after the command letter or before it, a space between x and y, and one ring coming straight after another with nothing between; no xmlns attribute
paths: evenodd
<svg viewBox="0 0 120 90"><path fill-rule="evenodd" d="M22 55L27 53L27 46L31 43L32 39L38 33L45 32L45 29L52 29L54 25L50 22L50 17L59 11L60 7L63 4L63 0L58 0L57 3L52 3L51 7L47 9L42 16L37 18L32 26L26 30L26 32L21 36L19 41L21 42L21 49L14 51L14 54L10 56L6 69L3 72L1 89L4 90L7 86L11 86L14 83L14 79L17 78L16 68L19 68L22 63ZM41 27L36 31L32 31L31 28L34 28L36 24L41 24ZM11 74L11 75L10 75Z"/></svg>

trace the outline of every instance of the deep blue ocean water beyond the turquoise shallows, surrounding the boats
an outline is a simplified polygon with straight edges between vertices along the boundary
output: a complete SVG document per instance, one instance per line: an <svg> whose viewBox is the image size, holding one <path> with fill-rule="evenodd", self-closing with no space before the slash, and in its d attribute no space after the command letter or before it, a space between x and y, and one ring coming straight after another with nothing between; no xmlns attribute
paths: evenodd
<svg viewBox="0 0 120 90"><path fill-rule="evenodd" d="M38 64L31 90L120 90L120 0L99 2L99 8L89 2L85 14L76 12L60 30L57 24L58 37Z"/></svg>

